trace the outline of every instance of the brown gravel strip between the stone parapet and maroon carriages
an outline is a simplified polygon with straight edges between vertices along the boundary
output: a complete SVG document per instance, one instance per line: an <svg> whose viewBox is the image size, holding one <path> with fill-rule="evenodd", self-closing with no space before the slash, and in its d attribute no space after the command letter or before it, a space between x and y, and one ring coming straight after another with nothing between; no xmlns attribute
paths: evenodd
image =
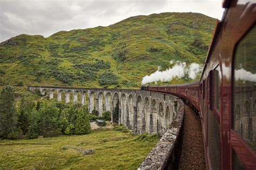
<svg viewBox="0 0 256 170"><path fill-rule="evenodd" d="M200 119L185 105L184 136L179 169L205 169L203 134Z"/></svg>

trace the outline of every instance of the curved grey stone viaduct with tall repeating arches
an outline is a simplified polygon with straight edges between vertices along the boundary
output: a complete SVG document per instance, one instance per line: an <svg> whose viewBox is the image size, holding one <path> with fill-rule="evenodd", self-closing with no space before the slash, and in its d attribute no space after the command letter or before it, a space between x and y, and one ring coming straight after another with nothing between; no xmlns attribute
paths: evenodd
<svg viewBox="0 0 256 170"><path fill-rule="evenodd" d="M73 104L87 105L89 113L95 109L99 112L99 116L105 111L113 113L119 103L118 123L132 129L134 134L153 134L157 130L160 134L164 134L176 117L179 107L177 97L151 91L45 86L30 86L29 90L40 91L43 95L48 94L49 99L53 99L56 95L57 101L62 101L65 97L65 103L70 103L72 95Z"/></svg>

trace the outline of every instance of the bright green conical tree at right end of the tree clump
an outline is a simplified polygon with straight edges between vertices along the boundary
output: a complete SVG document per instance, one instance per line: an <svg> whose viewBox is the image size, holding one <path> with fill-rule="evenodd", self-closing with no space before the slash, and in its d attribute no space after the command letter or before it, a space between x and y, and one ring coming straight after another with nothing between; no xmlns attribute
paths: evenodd
<svg viewBox="0 0 256 170"><path fill-rule="evenodd" d="M75 134L84 134L90 133L91 126L88 115L82 109L78 111L76 125L75 125Z"/></svg>

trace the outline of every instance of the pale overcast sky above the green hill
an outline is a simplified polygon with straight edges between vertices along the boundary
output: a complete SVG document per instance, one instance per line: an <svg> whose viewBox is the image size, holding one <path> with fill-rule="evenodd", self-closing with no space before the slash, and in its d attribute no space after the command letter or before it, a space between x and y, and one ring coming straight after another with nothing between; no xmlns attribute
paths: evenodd
<svg viewBox="0 0 256 170"><path fill-rule="evenodd" d="M0 42L20 35L43 35L107 26L137 15L199 12L221 19L222 0L0 0Z"/></svg>

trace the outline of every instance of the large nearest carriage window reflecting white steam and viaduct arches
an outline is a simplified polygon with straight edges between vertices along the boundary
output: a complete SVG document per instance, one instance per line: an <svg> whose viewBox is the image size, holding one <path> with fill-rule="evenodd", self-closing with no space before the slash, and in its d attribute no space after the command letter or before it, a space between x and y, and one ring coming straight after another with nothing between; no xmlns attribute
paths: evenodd
<svg viewBox="0 0 256 170"><path fill-rule="evenodd" d="M256 150L256 27L245 35L234 52L232 128Z"/></svg>

